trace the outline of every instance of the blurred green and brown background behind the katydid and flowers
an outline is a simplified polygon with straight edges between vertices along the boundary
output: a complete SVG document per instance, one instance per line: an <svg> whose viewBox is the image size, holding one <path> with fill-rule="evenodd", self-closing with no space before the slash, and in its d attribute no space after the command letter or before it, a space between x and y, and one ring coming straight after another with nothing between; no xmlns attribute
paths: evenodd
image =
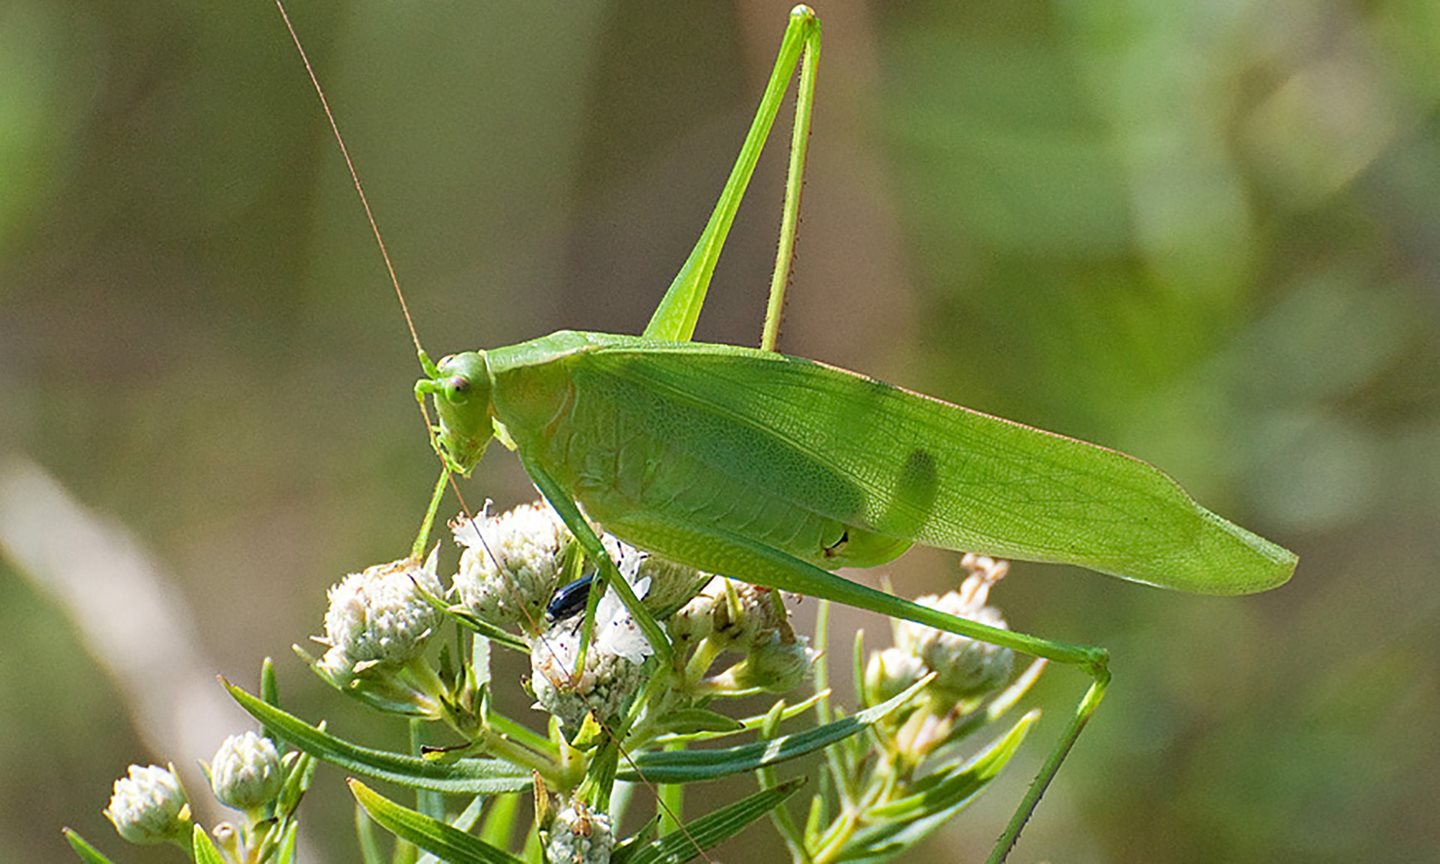
<svg viewBox="0 0 1440 864"><path fill-rule="evenodd" d="M638 331L785 9L291 3L436 354ZM1434 860L1440 6L818 12L782 347L1133 452L1302 559L1240 599L1012 570L1012 625L1107 645L1116 674L1012 860ZM703 338L757 340L782 173L776 145ZM416 372L271 3L0 3L0 472L39 465L128 531L194 622L122 661L62 599L144 621L120 559L48 582L20 547L63 557L82 531L6 487L0 857L65 860L69 824L171 860L121 848L109 783L207 757L243 719L207 717L204 675L252 683L266 654L298 711L402 744L288 645L328 583L408 549L433 478ZM531 494L504 455L468 488ZM955 579L935 554L887 572L910 595ZM202 696L138 707L187 664ZM1030 762L912 860L989 847L1083 685L1047 675ZM156 711L206 734L166 739ZM353 860L337 772L308 812L310 860ZM746 842L776 848L763 825Z"/></svg>

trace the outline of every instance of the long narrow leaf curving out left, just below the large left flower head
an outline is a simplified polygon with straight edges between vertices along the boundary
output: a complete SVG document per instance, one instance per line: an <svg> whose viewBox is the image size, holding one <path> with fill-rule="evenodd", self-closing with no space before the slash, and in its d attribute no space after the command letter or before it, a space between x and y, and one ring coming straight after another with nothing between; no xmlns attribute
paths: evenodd
<svg viewBox="0 0 1440 864"><path fill-rule="evenodd" d="M530 772L508 762L498 759L435 762L405 753L361 747L268 706L229 681L222 680L222 683L230 697L252 717L274 729L295 747L344 770L400 783L412 789L454 795L491 795L530 788Z"/></svg>

